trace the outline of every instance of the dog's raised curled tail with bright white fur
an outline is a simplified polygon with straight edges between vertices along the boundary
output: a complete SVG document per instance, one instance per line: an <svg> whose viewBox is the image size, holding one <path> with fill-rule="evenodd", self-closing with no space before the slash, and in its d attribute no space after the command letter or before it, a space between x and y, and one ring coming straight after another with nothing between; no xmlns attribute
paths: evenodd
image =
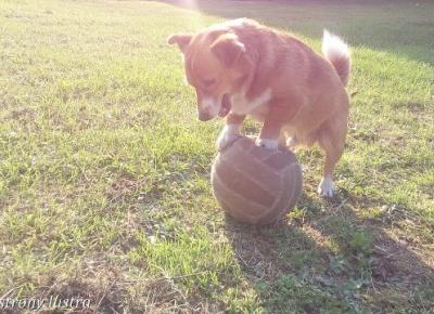
<svg viewBox="0 0 434 314"><path fill-rule="evenodd" d="M334 66L344 86L348 83L352 57L348 45L337 36L324 29L322 53Z"/></svg>

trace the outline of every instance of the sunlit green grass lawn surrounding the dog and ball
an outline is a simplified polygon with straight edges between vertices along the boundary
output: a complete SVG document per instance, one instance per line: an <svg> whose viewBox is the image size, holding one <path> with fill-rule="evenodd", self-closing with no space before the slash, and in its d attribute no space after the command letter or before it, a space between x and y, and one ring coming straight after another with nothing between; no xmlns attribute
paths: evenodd
<svg viewBox="0 0 434 314"><path fill-rule="evenodd" d="M90 313L434 313L434 3L199 6L0 1L0 296L81 296ZM266 228L218 208L224 122L196 120L166 44L241 16L353 48L337 196L317 196L322 156L302 151L304 195Z"/></svg>

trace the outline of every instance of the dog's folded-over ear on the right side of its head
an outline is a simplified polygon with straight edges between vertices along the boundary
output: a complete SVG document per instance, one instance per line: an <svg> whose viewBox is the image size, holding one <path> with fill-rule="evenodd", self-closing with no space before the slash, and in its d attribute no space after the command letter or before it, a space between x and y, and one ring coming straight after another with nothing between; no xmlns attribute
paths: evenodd
<svg viewBox="0 0 434 314"><path fill-rule="evenodd" d="M237 35L221 35L210 45L210 51L227 66L231 67L240 56L245 52L245 45Z"/></svg>

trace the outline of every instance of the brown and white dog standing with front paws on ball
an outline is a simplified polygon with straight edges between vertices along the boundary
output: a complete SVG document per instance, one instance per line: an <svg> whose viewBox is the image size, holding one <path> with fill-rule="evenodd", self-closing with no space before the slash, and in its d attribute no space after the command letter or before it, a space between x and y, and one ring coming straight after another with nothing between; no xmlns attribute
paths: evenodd
<svg viewBox="0 0 434 314"><path fill-rule="evenodd" d="M297 38L240 18L196 35L173 35L196 90L199 119L227 117L217 145L240 134L246 115L264 122L258 145L276 149L318 142L326 152L318 192L333 195L332 173L347 132L350 57L347 45L324 31L321 56Z"/></svg>

